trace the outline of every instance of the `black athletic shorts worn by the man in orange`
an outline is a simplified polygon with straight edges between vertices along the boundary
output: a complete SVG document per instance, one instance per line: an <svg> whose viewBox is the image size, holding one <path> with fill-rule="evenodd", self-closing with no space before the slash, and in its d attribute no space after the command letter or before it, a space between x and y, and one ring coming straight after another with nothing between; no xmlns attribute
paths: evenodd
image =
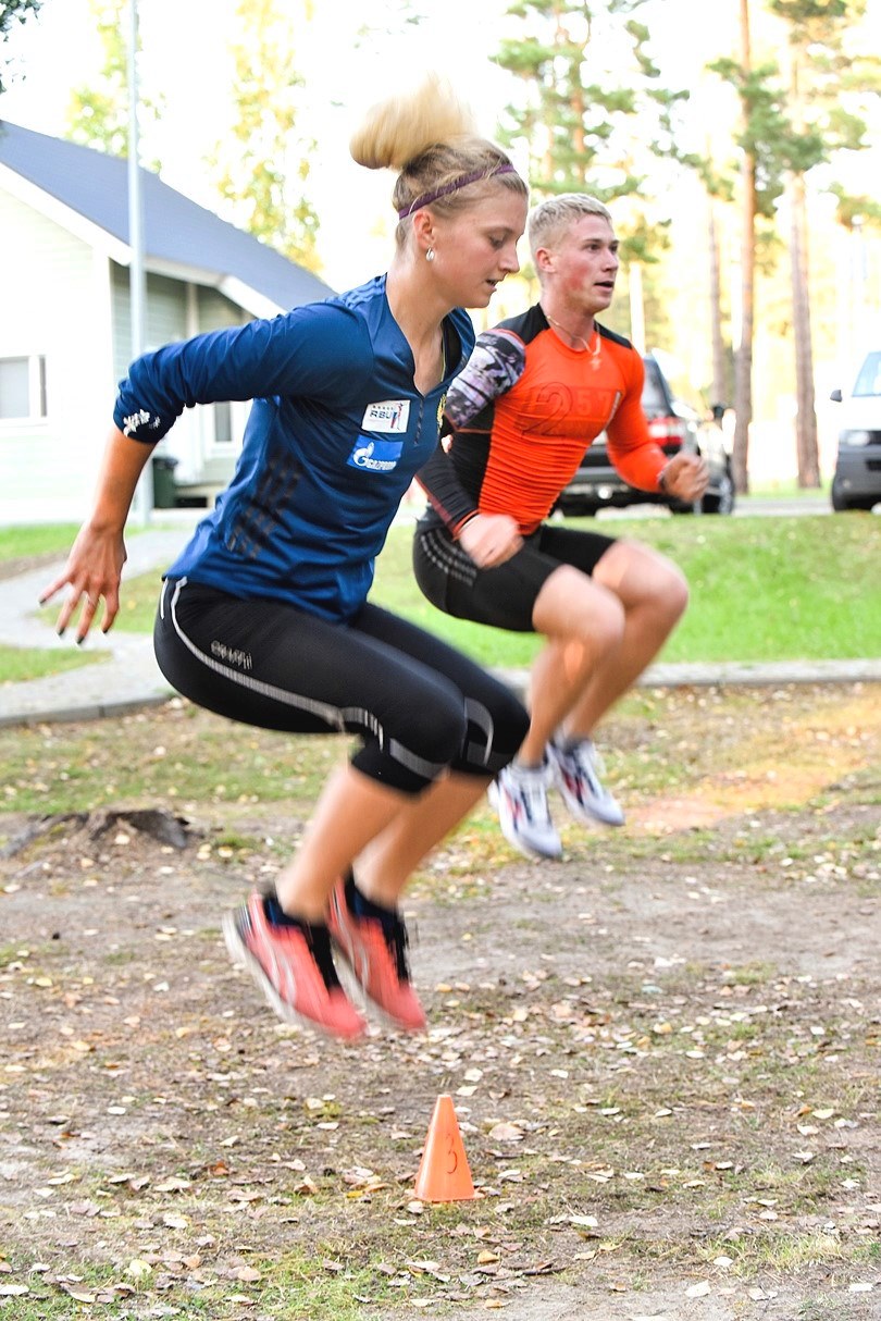
<svg viewBox="0 0 881 1321"><path fill-rule="evenodd" d="M543 523L498 568L479 569L433 515L420 520L413 539L413 572L423 594L458 620L532 633L532 610L544 583L561 564L588 576L614 538Z"/></svg>

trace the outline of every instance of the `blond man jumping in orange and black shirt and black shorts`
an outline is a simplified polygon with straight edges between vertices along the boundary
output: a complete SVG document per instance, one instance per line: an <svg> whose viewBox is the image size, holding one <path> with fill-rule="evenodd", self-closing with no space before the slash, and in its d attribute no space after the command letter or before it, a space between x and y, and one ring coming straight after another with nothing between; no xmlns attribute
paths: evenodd
<svg viewBox="0 0 881 1321"><path fill-rule="evenodd" d="M580 193L551 198L532 211L528 236L540 300L481 334L450 387L448 446L419 474L429 509L413 564L448 614L547 638L528 734L490 798L511 844L559 857L551 786L581 820L623 822L600 781L593 732L670 637L688 589L645 546L546 519L602 431L613 464L642 490L697 501L707 465L692 453L668 458L651 439L642 358L594 320L618 273L606 207Z"/></svg>

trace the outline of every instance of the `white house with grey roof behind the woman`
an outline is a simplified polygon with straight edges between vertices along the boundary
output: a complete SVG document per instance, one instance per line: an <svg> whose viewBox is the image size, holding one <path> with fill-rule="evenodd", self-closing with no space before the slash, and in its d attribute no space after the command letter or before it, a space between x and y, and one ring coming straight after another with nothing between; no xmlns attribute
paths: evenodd
<svg viewBox="0 0 881 1321"><path fill-rule="evenodd" d="M147 349L333 293L140 173ZM0 120L0 523L87 511L131 361L127 196L124 160ZM226 483L247 408L186 410L161 443L184 502Z"/></svg>

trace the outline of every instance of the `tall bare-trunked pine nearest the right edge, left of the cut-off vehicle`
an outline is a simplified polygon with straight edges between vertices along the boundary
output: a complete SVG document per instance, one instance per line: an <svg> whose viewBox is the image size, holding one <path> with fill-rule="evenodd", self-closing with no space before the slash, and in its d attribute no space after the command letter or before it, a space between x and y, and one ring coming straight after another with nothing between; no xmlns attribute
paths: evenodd
<svg viewBox="0 0 881 1321"><path fill-rule="evenodd" d="M865 16L865 0L769 0L769 9L787 25L789 112L796 132L816 129L823 161L866 147L866 122L857 111L866 92L881 89L881 61L845 50L847 36ZM799 486L820 485L806 186L806 169L814 164L818 156L794 160L787 178Z"/></svg>

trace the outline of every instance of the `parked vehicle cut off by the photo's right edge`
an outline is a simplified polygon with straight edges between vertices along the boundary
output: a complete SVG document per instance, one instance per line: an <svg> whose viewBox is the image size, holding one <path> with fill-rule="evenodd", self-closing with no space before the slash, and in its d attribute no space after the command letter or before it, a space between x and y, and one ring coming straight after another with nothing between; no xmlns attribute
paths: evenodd
<svg viewBox="0 0 881 1321"><path fill-rule="evenodd" d="M849 395L833 390L831 398L844 410L832 509L872 509L881 501L881 349L865 355Z"/></svg>

